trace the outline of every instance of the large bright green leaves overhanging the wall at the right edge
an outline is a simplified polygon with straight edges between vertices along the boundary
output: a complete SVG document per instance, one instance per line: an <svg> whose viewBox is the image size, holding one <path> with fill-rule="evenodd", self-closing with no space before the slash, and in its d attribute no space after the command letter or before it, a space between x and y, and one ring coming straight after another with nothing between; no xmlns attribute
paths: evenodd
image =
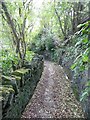
<svg viewBox="0 0 90 120"><path fill-rule="evenodd" d="M80 72L84 72L85 70L89 69L89 53L90 53L90 47L89 47L89 31L88 31L89 22L86 22L84 24L80 24L78 27L82 28L82 35L81 39L76 42L75 49L81 49L79 54L77 55L74 64L71 66L71 69L80 74ZM88 31L88 32L87 32ZM78 70L76 70L78 69ZM80 101L86 100L87 97L90 95L90 80L87 80L88 87L85 87L85 90L82 93L82 96L80 98Z"/></svg>

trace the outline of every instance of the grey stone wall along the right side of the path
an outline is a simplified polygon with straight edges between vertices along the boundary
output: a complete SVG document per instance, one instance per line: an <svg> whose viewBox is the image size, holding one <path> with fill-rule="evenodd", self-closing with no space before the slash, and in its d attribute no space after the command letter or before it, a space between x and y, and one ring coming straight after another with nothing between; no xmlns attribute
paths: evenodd
<svg viewBox="0 0 90 120"><path fill-rule="evenodd" d="M62 60L61 66L64 68L68 78L71 80L71 87L74 91L77 100L80 100L80 97L85 89L85 85L88 80L88 70L82 72L79 76L75 78L75 73L70 69L70 66L72 64L73 60L67 62ZM90 98L86 99L85 101L82 101L81 105L83 107L83 111L85 112L85 116L90 118Z"/></svg>

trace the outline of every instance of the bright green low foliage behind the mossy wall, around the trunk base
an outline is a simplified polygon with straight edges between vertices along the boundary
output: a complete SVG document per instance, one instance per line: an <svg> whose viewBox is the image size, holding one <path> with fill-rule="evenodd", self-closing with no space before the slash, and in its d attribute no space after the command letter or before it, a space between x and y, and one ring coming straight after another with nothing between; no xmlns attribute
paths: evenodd
<svg viewBox="0 0 90 120"><path fill-rule="evenodd" d="M26 51L25 61L30 62L33 56L34 53L32 51ZM17 67L19 63L19 57L16 56L14 51L10 51L8 49L0 51L0 68L2 70L2 74L9 75L13 71L12 61L14 66Z"/></svg>

